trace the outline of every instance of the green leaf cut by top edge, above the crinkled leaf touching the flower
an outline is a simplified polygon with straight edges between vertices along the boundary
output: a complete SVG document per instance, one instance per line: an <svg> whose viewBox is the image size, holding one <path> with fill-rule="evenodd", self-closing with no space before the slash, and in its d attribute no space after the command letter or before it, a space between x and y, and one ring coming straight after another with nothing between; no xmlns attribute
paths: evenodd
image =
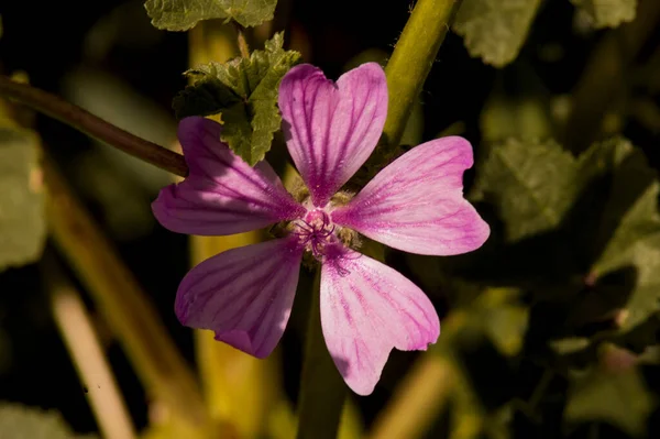
<svg viewBox="0 0 660 439"><path fill-rule="evenodd" d="M187 31L200 20L233 20L248 28L273 20L277 0L146 0L152 24L167 31Z"/></svg>

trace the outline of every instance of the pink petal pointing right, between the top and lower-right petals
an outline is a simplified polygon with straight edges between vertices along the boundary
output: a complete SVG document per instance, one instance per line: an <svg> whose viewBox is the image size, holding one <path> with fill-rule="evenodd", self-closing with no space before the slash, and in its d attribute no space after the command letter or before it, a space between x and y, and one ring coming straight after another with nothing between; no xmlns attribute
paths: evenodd
<svg viewBox="0 0 660 439"><path fill-rule="evenodd" d="M336 209L332 221L410 253L451 255L479 249L491 229L463 198L463 172L472 164L465 139L421 144Z"/></svg>

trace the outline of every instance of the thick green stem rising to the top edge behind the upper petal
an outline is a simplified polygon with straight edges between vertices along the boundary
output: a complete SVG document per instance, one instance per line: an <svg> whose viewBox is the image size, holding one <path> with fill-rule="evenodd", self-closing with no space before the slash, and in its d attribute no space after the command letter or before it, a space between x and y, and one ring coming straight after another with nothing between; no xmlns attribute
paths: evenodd
<svg viewBox="0 0 660 439"><path fill-rule="evenodd" d="M385 147L396 149L461 0L418 0L385 67L389 102Z"/></svg>

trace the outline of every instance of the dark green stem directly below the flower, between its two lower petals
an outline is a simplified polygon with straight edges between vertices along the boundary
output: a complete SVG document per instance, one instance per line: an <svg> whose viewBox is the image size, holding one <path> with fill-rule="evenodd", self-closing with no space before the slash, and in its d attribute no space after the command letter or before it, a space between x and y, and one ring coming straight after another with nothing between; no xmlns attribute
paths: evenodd
<svg viewBox="0 0 660 439"><path fill-rule="evenodd" d="M300 380L298 439L334 439L346 396L346 387L323 340L320 277L319 268L312 287Z"/></svg>

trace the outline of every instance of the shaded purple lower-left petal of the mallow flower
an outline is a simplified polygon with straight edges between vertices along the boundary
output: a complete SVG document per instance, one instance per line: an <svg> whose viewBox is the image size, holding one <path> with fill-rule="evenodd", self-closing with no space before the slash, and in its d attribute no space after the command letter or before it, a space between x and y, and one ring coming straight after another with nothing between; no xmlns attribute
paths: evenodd
<svg viewBox="0 0 660 439"><path fill-rule="evenodd" d="M297 240L284 238L208 259L182 281L176 316L243 352L267 356L288 321L301 255Z"/></svg>

